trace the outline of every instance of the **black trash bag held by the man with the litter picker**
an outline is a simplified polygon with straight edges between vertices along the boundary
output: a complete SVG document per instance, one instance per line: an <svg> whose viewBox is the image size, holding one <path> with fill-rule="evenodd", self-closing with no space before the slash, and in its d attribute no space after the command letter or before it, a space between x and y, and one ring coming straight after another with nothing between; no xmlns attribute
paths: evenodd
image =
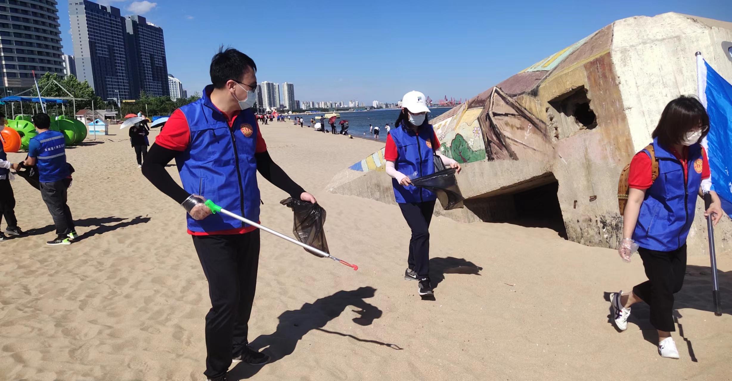
<svg viewBox="0 0 732 381"><path fill-rule="evenodd" d="M291 208L295 213L292 227L295 238L303 244L329 253L328 242L325 239L325 209L321 205L296 200L292 197L285 198L285 200L280 201L280 204ZM321 254L311 252L308 249L305 249L305 251L316 257L322 257Z"/></svg>

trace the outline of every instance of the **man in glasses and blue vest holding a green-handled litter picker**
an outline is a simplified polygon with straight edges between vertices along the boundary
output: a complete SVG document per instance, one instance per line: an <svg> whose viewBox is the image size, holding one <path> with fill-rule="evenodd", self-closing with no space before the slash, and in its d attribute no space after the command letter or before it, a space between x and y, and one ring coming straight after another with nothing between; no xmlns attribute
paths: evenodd
<svg viewBox="0 0 732 381"><path fill-rule="evenodd" d="M257 172L291 197L315 197L285 174L266 150L252 107L256 65L249 56L223 48L211 61L212 85L203 97L175 110L143 164L143 175L187 211L188 233L209 281L212 308L206 314L206 371L225 380L232 360L263 365L269 356L248 346L259 260L259 230L224 214L211 214L203 199L259 221ZM165 170L175 159L183 187Z"/></svg>

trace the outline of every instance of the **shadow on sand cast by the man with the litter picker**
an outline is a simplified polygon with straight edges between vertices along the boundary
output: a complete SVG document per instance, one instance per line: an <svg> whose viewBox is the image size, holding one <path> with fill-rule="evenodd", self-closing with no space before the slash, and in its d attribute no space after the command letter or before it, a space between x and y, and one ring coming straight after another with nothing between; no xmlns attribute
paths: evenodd
<svg viewBox="0 0 732 381"><path fill-rule="evenodd" d="M320 298L311 303L305 303L300 309L283 312L280 314L280 323L277 330L269 335L261 335L254 339L249 345L254 350L264 349L264 352L272 357L270 363L279 361L295 351L297 342L308 332L317 330L337 336L350 337L358 342L377 344L393 350L401 350L396 344L378 342L376 340L360 339L351 334L329 331L323 327L329 321L340 316L348 306L354 306L352 312L358 314L352 320L358 325L370 325L373 320L381 317L381 309L364 301L366 298L373 298L376 289L373 287L360 287L358 290L338 291L333 295ZM241 380L250 378L261 369L261 366L250 366L245 363L237 364L234 369L228 372L227 380Z"/></svg>

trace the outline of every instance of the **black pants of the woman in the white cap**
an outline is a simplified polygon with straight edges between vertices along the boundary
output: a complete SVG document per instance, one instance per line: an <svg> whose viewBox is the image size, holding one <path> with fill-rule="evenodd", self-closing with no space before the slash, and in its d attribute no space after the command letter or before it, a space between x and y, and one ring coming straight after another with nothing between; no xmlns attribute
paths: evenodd
<svg viewBox="0 0 732 381"><path fill-rule="evenodd" d="M399 208L412 231L407 264L419 278L426 278L430 275L430 222L435 201L400 203Z"/></svg>

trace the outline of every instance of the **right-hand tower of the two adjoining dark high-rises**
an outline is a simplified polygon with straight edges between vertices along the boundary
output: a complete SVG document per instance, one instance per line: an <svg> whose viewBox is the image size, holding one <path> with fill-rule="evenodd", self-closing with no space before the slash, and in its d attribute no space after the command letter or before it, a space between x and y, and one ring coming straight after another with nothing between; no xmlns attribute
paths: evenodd
<svg viewBox="0 0 732 381"><path fill-rule="evenodd" d="M153 97L171 95L163 28L138 15L127 16L124 21L127 56L130 58L130 96L137 98L141 91Z"/></svg>

